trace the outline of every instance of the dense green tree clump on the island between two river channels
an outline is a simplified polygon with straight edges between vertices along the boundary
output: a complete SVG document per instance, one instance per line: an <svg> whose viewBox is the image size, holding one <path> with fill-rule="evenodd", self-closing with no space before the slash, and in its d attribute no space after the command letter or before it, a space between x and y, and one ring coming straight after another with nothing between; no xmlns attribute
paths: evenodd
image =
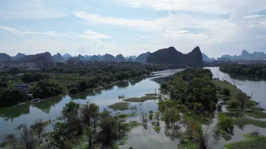
<svg viewBox="0 0 266 149"><path fill-rule="evenodd" d="M161 85L162 94L172 102L181 103L196 111L216 110L216 87L208 69L187 69L179 72L166 84Z"/></svg>

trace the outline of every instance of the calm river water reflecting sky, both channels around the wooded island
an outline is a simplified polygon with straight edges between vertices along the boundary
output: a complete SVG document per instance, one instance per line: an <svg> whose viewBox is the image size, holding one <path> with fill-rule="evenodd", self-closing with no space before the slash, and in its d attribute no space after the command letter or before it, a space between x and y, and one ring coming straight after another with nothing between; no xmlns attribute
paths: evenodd
<svg viewBox="0 0 266 149"><path fill-rule="evenodd" d="M251 95L253 92L253 99L256 101L262 101L262 106L266 108L266 81L260 79L249 79L238 76L230 76L228 74L219 71L218 67L208 68L212 71L214 77L220 79L224 78L228 81L236 78L236 86L240 88L243 92ZM67 102L73 100L75 102L85 104L87 101L94 102L100 106L100 110L107 108L108 105L121 102L118 99L119 95L124 95L126 98L132 97L142 97L144 94L155 93L155 88L158 91L160 83L165 82L169 75L182 71L182 69L171 69L161 72L155 72L154 77L150 78L139 78L131 82L118 83L115 86L105 87L98 90L90 90L86 92L81 92L75 95L65 96L65 97L53 97L49 99L44 99L37 103L26 103L23 105L15 105L8 108L0 108L0 135L5 133L15 133L16 126L19 124L31 125L36 119L43 120L55 120L61 114L61 110ZM137 112L142 109L144 112L149 110L157 110L157 100L148 100L141 104L130 103L130 106L137 106ZM108 109L108 108L107 108ZM131 110L126 111L114 111L109 109L112 113L130 113ZM134 118L128 118L127 121L138 121L140 122L139 116ZM212 126L216 124L216 118L212 121ZM152 125L149 123L147 129L143 129L142 126L134 128L128 135L128 142L120 146L121 149L129 149L132 145L134 149L177 149L179 144L179 139L171 139L165 134L164 124L161 123L162 129L160 132L155 132ZM47 129L51 129L49 126ZM253 125L247 125L242 130L235 126L234 135L230 141L225 141L220 139L219 141L214 141L210 139L209 145L214 149L224 149L224 145L244 140L244 134L250 133L254 130L259 130L262 134L266 135L266 129L256 127Z"/></svg>

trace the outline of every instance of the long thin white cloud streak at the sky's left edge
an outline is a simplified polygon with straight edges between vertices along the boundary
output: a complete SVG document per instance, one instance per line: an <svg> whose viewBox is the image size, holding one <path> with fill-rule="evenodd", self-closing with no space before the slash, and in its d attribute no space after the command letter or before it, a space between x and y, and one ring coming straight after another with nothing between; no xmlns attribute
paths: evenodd
<svg viewBox="0 0 266 149"><path fill-rule="evenodd" d="M12 33L14 33L16 35L25 35L25 34L51 35L51 36L67 35L67 34L59 34L59 33L56 33L55 31L46 31L46 32L22 31L20 29L13 28L13 27L7 27L7 26L0 26L0 30L5 30L5 31L8 31L8 32L12 32Z"/></svg>

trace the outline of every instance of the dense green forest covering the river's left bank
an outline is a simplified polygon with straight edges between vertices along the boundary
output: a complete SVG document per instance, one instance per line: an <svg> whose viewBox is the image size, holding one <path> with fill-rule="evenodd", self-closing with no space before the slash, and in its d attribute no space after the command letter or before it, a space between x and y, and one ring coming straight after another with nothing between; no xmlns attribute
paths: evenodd
<svg viewBox="0 0 266 149"><path fill-rule="evenodd" d="M28 99L14 88L16 83L28 83L33 98L48 98L114 85L115 82L148 76L153 71L165 69L164 65L138 63L41 69L38 72L23 72L22 75L20 70L10 69L8 73L0 74L0 106L10 106Z"/></svg>

